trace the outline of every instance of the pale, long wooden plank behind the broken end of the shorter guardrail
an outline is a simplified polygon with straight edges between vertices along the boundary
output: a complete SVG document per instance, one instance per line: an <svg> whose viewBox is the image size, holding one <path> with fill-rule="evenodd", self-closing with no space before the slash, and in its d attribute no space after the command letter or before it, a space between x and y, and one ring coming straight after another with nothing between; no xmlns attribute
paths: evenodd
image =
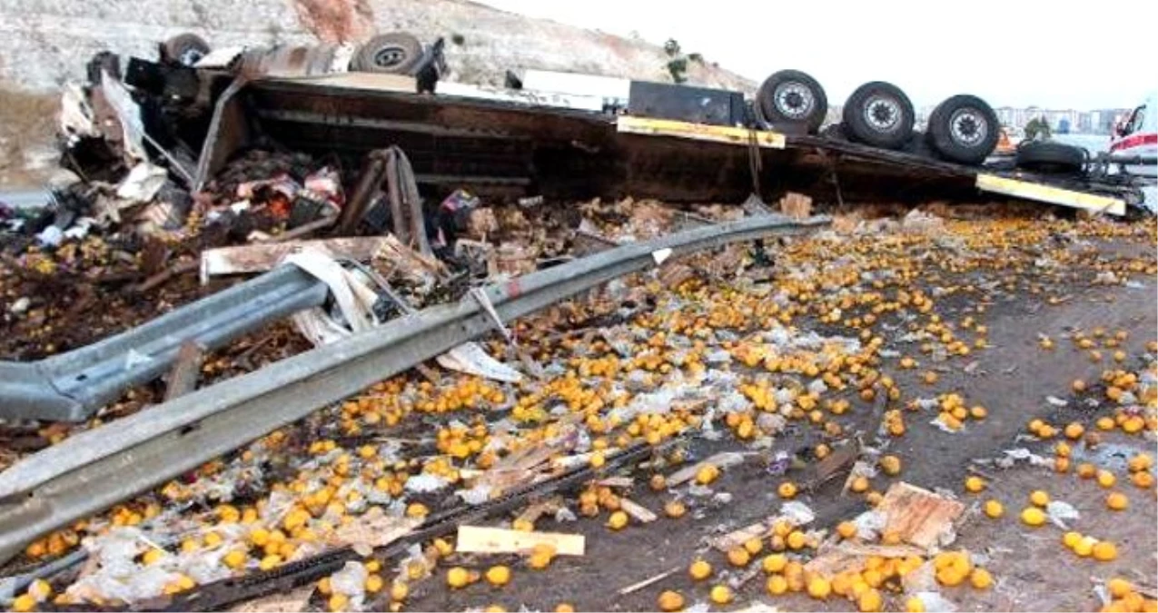
<svg viewBox="0 0 1158 613"><path fill-rule="evenodd" d="M359 262L368 262L389 243L389 236L366 236L254 243L207 249L201 251L201 282L215 275L265 272L277 267L286 256L306 250L321 251L330 257L347 257Z"/></svg>

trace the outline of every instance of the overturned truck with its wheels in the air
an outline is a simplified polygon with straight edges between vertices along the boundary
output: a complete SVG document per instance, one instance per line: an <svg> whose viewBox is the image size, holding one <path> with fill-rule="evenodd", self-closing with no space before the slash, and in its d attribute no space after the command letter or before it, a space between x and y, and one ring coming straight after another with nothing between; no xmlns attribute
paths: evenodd
<svg viewBox="0 0 1158 613"><path fill-rule="evenodd" d="M799 71L772 74L750 101L633 81L596 110L526 89L440 87L441 41L424 48L402 34L361 48L161 56L131 59L124 82L156 132L148 146L192 190L254 149L358 169L396 146L424 192L740 202L799 191L843 203L976 200L981 190L1112 214L1143 199L1130 176L1034 174L992 159L1001 126L975 96L946 100L917 132L911 102L885 82L858 88L824 127L823 88ZM352 189L357 175L343 180Z"/></svg>

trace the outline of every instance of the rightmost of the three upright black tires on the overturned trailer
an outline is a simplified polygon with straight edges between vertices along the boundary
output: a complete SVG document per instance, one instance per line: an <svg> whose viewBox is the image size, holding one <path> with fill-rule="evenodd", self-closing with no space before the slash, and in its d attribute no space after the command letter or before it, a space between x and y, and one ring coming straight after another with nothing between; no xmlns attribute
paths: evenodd
<svg viewBox="0 0 1158 613"><path fill-rule="evenodd" d="M941 102L929 115L925 140L946 160L979 165L994 153L1001 130L997 114L985 101L961 94Z"/></svg>

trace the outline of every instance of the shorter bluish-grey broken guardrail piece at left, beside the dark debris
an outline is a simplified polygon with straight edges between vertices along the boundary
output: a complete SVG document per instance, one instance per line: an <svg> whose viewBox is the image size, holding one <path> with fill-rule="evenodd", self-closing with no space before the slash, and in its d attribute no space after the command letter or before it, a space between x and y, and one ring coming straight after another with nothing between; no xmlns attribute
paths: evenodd
<svg viewBox="0 0 1158 613"><path fill-rule="evenodd" d="M39 362L0 362L0 417L79 422L127 387L164 374L181 344L215 349L321 305L325 284L283 267L123 334Z"/></svg>

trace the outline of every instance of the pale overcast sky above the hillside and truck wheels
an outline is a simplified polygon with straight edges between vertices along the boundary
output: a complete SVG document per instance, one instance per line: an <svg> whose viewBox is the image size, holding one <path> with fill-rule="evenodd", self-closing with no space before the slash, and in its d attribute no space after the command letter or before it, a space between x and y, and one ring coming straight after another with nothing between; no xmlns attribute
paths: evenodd
<svg viewBox="0 0 1158 613"><path fill-rule="evenodd" d="M802 70L843 102L891 81L914 104L975 94L994 107L1092 110L1158 90L1158 1L481 0L662 43L762 81Z"/></svg>

